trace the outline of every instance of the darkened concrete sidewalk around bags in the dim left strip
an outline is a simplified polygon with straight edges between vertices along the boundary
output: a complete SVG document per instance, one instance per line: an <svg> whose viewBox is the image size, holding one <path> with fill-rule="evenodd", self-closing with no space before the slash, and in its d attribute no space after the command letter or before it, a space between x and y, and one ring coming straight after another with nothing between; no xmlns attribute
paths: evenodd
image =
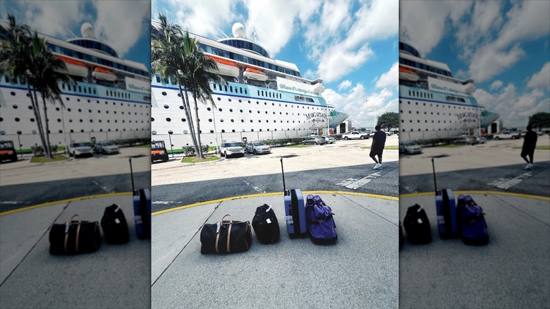
<svg viewBox="0 0 550 309"><path fill-rule="evenodd" d="M119 205L130 241L94 253L50 255L49 228L73 214L101 222ZM151 247L135 234L130 193L74 200L0 216L0 308L150 308Z"/></svg>

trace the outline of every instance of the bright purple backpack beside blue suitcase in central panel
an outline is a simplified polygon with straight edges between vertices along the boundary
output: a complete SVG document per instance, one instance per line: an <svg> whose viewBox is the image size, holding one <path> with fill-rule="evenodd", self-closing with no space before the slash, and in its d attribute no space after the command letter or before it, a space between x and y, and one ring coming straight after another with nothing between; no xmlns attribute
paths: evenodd
<svg viewBox="0 0 550 309"><path fill-rule="evenodd" d="M318 243L334 243L338 239L336 224L331 207L327 206L319 195L307 195L305 218L307 231Z"/></svg>

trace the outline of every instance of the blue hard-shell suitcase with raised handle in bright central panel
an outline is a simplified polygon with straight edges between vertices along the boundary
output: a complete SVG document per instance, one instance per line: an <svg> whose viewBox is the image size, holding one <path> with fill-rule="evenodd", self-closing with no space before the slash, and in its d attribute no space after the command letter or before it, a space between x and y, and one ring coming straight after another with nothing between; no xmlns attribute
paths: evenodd
<svg viewBox="0 0 550 309"><path fill-rule="evenodd" d="M288 189L285 186L285 172L283 169L283 158L281 158L281 170L283 172L283 192L285 202L285 221L288 237L307 237L307 226L305 223L305 200L300 189Z"/></svg>

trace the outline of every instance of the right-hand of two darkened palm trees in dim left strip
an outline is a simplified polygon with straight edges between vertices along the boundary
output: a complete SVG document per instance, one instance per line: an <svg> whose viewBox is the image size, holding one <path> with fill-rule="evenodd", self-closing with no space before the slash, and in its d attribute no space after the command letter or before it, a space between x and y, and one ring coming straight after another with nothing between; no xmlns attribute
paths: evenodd
<svg viewBox="0 0 550 309"><path fill-rule="evenodd" d="M65 73L59 71L65 70L66 65L63 60L52 54L46 46L44 39L38 37L37 32L32 36L32 66L34 73L30 76L30 84L34 86L35 97L36 90L42 95L42 103L44 109L44 119L46 119L46 127L44 135L46 137L46 155L50 159L53 158L50 151L49 142L49 121L46 99L54 103L56 100L61 102L61 108L65 108L63 100L61 99L61 89L59 89L59 82L73 83L72 78Z"/></svg>

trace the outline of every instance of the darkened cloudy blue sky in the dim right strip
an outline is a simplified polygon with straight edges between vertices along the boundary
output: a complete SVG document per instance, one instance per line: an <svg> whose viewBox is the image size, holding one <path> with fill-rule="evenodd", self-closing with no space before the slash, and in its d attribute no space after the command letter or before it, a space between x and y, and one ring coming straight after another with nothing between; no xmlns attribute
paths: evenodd
<svg viewBox="0 0 550 309"><path fill-rule="evenodd" d="M550 112L550 1L402 1L400 11L402 39L474 79L474 97L503 126Z"/></svg>

